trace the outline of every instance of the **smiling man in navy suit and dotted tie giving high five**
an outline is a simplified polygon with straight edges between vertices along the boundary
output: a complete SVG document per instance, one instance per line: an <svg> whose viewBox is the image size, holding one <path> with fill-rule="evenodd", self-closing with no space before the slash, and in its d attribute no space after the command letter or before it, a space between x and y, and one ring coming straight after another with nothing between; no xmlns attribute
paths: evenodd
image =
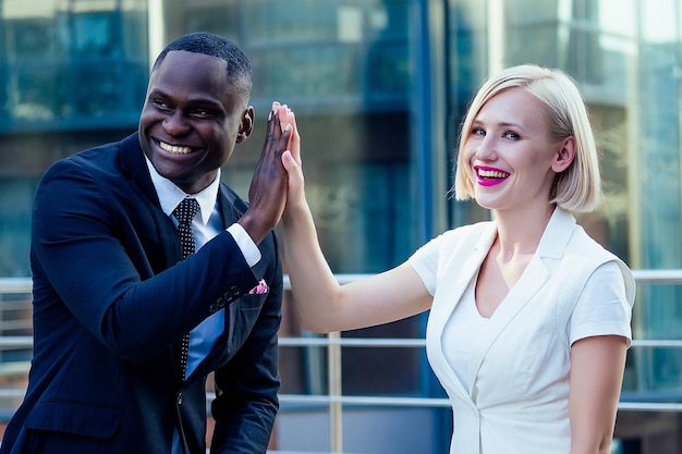
<svg viewBox="0 0 682 454"><path fill-rule="evenodd" d="M266 452L282 298L271 230L284 204L280 156L297 135L273 105L249 205L220 182L253 131L251 86L233 44L181 37L151 70L138 132L46 172L31 249L34 359L0 453L204 454L211 371L211 451ZM199 208L196 253L183 260L173 210L186 198Z"/></svg>

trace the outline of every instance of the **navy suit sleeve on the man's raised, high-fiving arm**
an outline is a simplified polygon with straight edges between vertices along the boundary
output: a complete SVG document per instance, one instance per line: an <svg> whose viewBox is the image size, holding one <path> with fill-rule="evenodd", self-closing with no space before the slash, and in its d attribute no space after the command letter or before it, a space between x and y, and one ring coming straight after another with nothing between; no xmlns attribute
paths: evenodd
<svg viewBox="0 0 682 454"><path fill-rule="evenodd" d="M144 235L158 242L160 222L170 220L153 214L130 182L74 159L46 173L34 205L36 299L63 302L95 338L130 361L155 357L257 283L228 232L155 273ZM155 254L157 260L162 255Z"/></svg>

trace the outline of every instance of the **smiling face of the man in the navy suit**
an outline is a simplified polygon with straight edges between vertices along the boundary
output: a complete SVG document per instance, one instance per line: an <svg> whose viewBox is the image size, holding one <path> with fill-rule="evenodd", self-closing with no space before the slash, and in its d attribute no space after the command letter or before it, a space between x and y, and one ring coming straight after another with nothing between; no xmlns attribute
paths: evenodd
<svg viewBox="0 0 682 454"><path fill-rule="evenodd" d="M157 172L187 194L208 186L253 130L253 109L227 83L224 60L171 51L153 70L139 143Z"/></svg>

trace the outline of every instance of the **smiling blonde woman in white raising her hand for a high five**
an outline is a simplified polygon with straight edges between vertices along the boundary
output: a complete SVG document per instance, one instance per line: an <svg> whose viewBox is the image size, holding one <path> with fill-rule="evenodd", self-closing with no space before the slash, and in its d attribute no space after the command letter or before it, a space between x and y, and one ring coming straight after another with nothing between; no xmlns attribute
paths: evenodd
<svg viewBox="0 0 682 454"><path fill-rule="evenodd" d="M283 235L307 329L430 310L427 353L452 403L451 454L609 452L635 285L571 214L598 206L600 179L570 77L521 65L489 78L462 124L454 194L494 221L444 232L397 268L346 285L317 242L297 133L290 145Z"/></svg>

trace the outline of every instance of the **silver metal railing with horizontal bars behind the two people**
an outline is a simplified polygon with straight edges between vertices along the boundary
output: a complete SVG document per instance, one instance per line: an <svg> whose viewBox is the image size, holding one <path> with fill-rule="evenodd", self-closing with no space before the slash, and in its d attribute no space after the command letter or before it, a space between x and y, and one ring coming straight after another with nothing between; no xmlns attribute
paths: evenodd
<svg viewBox="0 0 682 454"><path fill-rule="evenodd" d="M637 285L680 285L682 270L634 270ZM362 279L364 274L338 274L340 283L348 283ZM290 289L288 277L284 277L285 289ZM0 279L0 303L5 294L29 294L29 279ZM373 407L449 407L447 398L428 397L387 397L343 395L341 378L341 349L344 347L405 347L425 348L424 339L358 339L342 338L339 332L329 333L324 338L283 336L279 339L282 347L326 347L328 365L327 394L280 394L283 404L317 404L329 407L330 452L342 452L342 408L343 406L373 406ZM31 348L32 336L0 336L0 352L13 348ZM646 340L635 339L632 347L682 347L682 340ZM2 371L0 371L0 375ZM0 388L0 397L16 397L23 395L22 390ZM211 393L208 398L212 398ZM682 412L682 402L629 402L621 401L619 410L636 412Z"/></svg>

